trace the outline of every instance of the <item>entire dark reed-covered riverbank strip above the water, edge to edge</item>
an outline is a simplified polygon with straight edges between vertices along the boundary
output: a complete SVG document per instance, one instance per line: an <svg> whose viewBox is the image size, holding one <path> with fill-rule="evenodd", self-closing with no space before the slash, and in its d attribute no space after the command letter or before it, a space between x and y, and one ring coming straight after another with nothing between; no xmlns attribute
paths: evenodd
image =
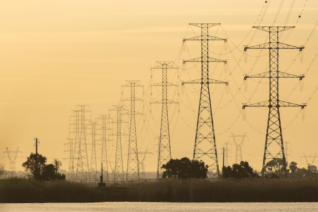
<svg viewBox="0 0 318 212"><path fill-rule="evenodd" d="M0 202L318 202L313 179L161 179L92 187L69 181L0 179Z"/></svg>

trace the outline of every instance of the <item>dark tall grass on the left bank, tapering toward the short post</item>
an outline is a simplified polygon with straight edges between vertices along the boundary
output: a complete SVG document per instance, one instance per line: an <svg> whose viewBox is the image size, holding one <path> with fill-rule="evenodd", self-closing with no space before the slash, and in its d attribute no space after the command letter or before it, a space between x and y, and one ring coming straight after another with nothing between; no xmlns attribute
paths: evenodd
<svg viewBox="0 0 318 212"><path fill-rule="evenodd" d="M0 179L0 202L97 202L103 197L97 189L68 181Z"/></svg>

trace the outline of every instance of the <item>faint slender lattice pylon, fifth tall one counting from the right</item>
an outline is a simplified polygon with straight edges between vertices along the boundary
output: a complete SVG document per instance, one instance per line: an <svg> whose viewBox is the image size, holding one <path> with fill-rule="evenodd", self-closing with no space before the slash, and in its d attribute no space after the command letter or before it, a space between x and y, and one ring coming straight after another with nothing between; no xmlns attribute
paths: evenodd
<svg viewBox="0 0 318 212"><path fill-rule="evenodd" d="M122 105L114 105L117 112L117 119L116 119L116 125L117 125L117 131L116 131L116 157L115 157L115 169L114 169L114 182L116 181L124 181L124 174L123 174L123 163L122 163L122 150L121 150L121 115L123 106Z"/></svg>

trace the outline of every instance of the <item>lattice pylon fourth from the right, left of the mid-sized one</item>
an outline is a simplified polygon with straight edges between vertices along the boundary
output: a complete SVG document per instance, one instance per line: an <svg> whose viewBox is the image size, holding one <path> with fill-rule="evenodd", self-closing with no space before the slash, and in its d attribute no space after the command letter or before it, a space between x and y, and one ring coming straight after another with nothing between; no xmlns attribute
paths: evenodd
<svg viewBox="0 0 318 212"><path fill-rule="evenodd" d="M127 82L129 84L123 85L123 86L130 87L131 97L128 99L124 99L124 101L130 101L131 109L130 109L130 130L129 130L126 181L134 181L134 180L140 180L135 115L141 114L135 110L135 101L141 100L135 97L135 89L136 87L143 87L143 86L138 84L139 80L127 80Z"/></svg>

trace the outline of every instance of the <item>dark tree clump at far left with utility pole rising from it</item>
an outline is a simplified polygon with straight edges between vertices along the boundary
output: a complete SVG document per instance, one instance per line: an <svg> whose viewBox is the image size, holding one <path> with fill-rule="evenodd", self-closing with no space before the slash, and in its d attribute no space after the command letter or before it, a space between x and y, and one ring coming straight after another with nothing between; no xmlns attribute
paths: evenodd
<svg viewBox="0 0 318 212"><path fill-rule="evenodd" d="M57 172L57 167L54 164L45 164L46 157L40 154L31 153L27 160L22 164L26 172L31 178L37 180L65 179L65 174ZM61 164L59 161L56 162Z"/></svg>

